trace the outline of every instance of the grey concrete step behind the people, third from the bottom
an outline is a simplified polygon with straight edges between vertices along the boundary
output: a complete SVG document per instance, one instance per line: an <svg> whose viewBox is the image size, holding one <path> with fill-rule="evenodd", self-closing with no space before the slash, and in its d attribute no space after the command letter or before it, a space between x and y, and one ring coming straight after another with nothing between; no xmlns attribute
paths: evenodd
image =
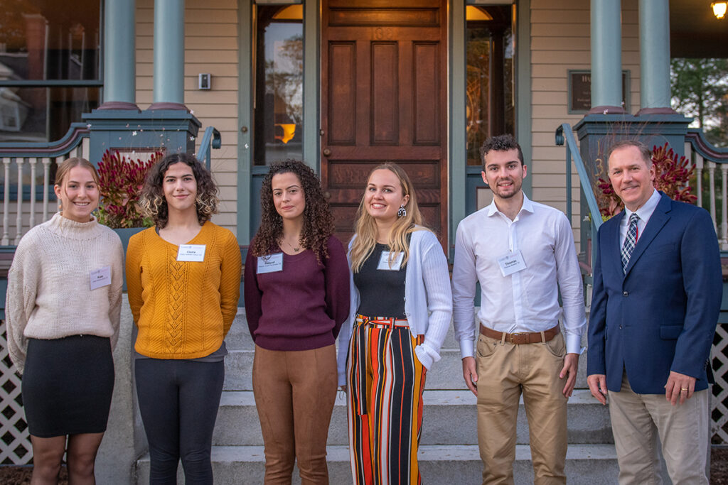
<svg viewBox="0 0 728 485"><path fill-rule="evenodd" d="M225 358L224 390L253 390L253 356L255 350L229 350ZM586 389L586 353L579 357L577 372L577 389ZM440 349L440 361L435 362L432 370L427 372L426 389L462 389L467 390L462 377L462 358L460 350L455 348Z"/></svg>

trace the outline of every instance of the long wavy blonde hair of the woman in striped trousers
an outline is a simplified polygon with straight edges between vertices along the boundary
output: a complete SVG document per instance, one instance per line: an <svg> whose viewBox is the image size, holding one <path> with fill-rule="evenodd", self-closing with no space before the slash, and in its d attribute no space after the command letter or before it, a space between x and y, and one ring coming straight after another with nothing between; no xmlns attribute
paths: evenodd
<svg viewBox="0 0 728 485"><path fill-rule="evenodd" d="M387 169L389 172L397 175L400 180L400 186L402 187L402 195L409 196L407 204L405 204L405 210L407 215L403 217L397 217L395 224L392 225L392 229L389 231L387 236L387 246L389 246L389 263L391 264L398 253L404 253L402 264L409 259L409 244L408 235L414 231L426 229L422 227L422 213L419 212L417 207L417 198L414 193L414 187L412 182L402 167L392 162L385 162L377 167L374 167L367 177L367 183L371 178L373 172L376 170ZM356 239L352 244L351 259L352 259L352 271L358 273L364 264L365 260L374 250L376 244L377 228L376 222L373 217L369 214L365 207L365 197L362 197L359 203L359 209L357 210L357 222L355 224Z"/></svg>

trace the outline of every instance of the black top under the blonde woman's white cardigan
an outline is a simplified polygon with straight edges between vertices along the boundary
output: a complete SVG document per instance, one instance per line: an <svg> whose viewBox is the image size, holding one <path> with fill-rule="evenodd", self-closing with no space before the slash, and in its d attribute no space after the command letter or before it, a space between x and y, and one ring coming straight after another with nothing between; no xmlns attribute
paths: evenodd
<svg viewBox="0 0 728 485"><path fill-rule="evenodd" d="M406 265L403 264L399 270L377 269L381 252L388 250L386 244L376 244L359 272L354 273L354 284L360 296L357 313L361 315L406 318Z"/></svg>

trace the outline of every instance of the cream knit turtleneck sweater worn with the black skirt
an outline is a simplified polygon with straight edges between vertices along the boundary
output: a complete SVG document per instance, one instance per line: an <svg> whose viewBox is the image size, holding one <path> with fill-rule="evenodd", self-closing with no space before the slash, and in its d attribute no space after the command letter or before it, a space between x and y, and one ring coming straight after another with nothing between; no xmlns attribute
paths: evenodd
<svg viewBox="0 0 728 485"><path fill-rule="evenodd" d="M122 242L96 220L77 223L60 215L28 231L8 272L5 323L10 358L20 373L26 339L119 334ZM111 284L90 289L90 272L109 266Z"/></svg>

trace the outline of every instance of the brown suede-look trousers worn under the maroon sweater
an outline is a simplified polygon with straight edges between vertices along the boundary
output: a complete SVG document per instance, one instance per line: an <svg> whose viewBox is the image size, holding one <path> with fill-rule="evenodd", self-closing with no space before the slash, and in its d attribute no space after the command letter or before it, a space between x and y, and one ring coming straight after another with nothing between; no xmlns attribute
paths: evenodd
<svg viewBox="0 0 728 485"><path fill-rule="evenodd" d="M326 439L336 400L336 349L266 350L256 345L253 394L266 454L265 484L328 484Z"/></svg>

